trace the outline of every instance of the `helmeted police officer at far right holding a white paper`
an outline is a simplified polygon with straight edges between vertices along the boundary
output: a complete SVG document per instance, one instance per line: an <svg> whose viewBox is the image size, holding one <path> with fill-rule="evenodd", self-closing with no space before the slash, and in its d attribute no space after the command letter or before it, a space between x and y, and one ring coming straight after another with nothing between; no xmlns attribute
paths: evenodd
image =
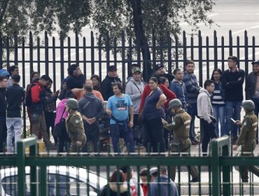
<svg viewBox="0 0 259 196"><path fill-rule="evenodd" d="M241 107L244 109L246 115L244 120L241 123L240 120L236 120L235 124L241 126L241 132L236 141L236 144L232 147L233 151L237 151L238 146L241 145L241 155L243 156L252 156L253 150L255 149L255 137L258 124L258 118L253 113L255 109L255 104L251 100L246 100L242 102ZM248 182L248 169L251 169L251 172L256 176L259 176L259 169L256 166L252 168L242 167L241 168L241 179L243 182Z"/></svg>

